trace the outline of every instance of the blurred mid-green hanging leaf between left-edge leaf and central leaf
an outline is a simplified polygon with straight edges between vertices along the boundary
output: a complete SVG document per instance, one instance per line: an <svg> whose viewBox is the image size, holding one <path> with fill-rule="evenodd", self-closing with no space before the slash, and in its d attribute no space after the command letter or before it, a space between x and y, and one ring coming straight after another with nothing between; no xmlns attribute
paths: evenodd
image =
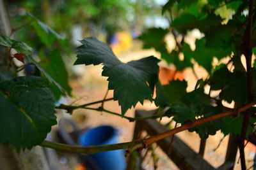
<svg viewBox="0 0 256 170"><path fill-rule="evenodd" d="M60 55L60 52L53 50L49 55L45 55L43 52L39 53L40 66L44 69L46 73L55 80L68 95L71 95L71 88L68 85L68 73L63 62L63 59ZM56 85L52 86L56 99L59 99L62 95L62 92L58 89Z"/></svg>

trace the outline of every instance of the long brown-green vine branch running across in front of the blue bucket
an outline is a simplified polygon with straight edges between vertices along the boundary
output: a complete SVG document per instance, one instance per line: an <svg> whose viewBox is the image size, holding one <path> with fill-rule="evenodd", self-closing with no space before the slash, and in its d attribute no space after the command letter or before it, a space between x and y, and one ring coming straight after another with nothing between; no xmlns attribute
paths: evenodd
<svg viewBox="0 0 256 170"><path fill-rule="evenodd" d="M177 134L178 132L186 131L188 129L191 129L198 125L205 124L212 120L216 120L218 118L237 115L237 113L241 113L245 110L248 110L248 108L252 108L252 106L254 104L256 104L256 101L253 101L252 103L248 103L240 108L237 108L236 110L226 111L223 113L212 115L211 117L199 118L198 120L181 125L180 127L177 127L170 131L166 131L161 134L156 134L155 136L151 136L149 138L131 141L128 143L118 143L118 144L103 145L103 146L72 146L72 145L64 145L61 143L53 143L50 141L43 141L43 143L41 143L40 146L44 146L47 148L54 148L57 150L63 150L63 151L67 151L67 152L90 153L90 154L98 153L98 152L105 152L105 151L109 151L109 150L119 150L119 149L127 148L127 154L129 154L129 153L133 152L134 150L141 150L142 148L145 148L148 145L151 145L152 143L154 143L156 141L164 139L168 136L172 136L173 134Z"/></svg>

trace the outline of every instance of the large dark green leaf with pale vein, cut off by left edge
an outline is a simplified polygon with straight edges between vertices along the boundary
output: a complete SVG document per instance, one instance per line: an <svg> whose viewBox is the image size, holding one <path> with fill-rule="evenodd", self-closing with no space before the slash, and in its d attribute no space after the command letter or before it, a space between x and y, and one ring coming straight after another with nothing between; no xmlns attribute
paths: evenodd
<svg viewBox="0 0 256 170"><path fill-rule="evenodd" d="M19 151L44 141L56 124L54 99L48 81L21 76L0 83L0 143Z"/></svg>

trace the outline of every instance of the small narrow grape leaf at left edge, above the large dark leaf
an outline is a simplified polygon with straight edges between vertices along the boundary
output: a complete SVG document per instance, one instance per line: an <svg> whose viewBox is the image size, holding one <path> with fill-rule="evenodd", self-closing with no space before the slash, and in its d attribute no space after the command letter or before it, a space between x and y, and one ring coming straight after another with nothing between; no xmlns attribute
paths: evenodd
<svg viewBox="0 0 256 170"><path fill-rule="evenodd" d="M0 34L0 45L8 46L10 48L14 48L19 53L25 53L29 55L33 49L28 46L26 43L21 41L16 41L14 39L10 39L7 36Z"/></svg>

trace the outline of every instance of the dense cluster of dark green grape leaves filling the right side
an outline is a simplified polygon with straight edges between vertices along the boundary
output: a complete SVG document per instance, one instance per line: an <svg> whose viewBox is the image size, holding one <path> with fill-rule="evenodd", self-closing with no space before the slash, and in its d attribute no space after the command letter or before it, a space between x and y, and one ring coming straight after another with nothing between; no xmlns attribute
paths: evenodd
<svg viewBox="0 0 256 170"><path fill-rule="evenodd" d="M223 101L227 101L227 103L234 101L238 104L248 102L246 69L241 62L241 56L245 53L244 49L246 48L244 43L248 41L248 37L246 37L248 15L243 14L244 10L248 10L248 3L240 0L170 0L163 6L162 11L170 20L170 28L150 28L140 36L144 48L154 47L161 53L161 59L175 66L177 71L188 67L193 68L193 64L196 62L208 72L208 77L198 80L195 90L192 92L186 92L186 86L180 84L182 81L171 81L170 85L166 87L157 85L155 103L162 108L170 106L166 116L174 115L173 120L186 124L186 122L197 118L225 111L221 110L221 108L225 108L222 104ZM202 37L196 39L195 50L191 50L186 38L189 36L189 32L195 29L200 31ZM254 32L255 24L252 35L252 52L256 53ZM151 37L150 34L152 34ZM165 43L168 34L175 36L173 43L176 43L176 46L172 52L168 52ZM180 55L184 55L184 59L181 60ZM229 58L228 64L221 64L221 59L225 57ZM214 58L218 59L218 66L212 64ZM256 92L255 74L255 68L252 68L253 93ZM207 94L205 92L206 85L210 87L210 92ZM217 96L212 97L210 95L212 90L220 90L220 92ZM253 123L253 119L250 118L250 120ZM214 120L189 129L189 131L196 131L201 138L207 138L220 129L225 135L239 134L242 122L243 117L241 116L227 117L223 118L223 121Z"/></svg>

